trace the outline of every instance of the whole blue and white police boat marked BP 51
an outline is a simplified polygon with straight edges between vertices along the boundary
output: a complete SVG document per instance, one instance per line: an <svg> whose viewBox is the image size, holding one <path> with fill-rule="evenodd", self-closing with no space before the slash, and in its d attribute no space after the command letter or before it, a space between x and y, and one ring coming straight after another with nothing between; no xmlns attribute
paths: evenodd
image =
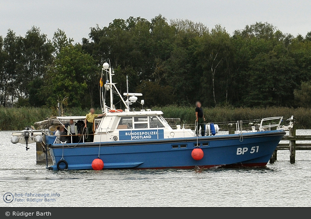
<svg viewBox="0 0 311 219"><path fill-rule="evenodd" d="M236 121L230 123L235 125L233 133L227 134L220 131L225 123L208 123L205 136L199 136L194 131L196 124L171 127L162 111L131 109L142 94L129 93L127 86L127 92L121 95L112 81L113 75L110 65L104 63L100 80L103 116L94 124L93 134L83 132L77 143L69 135L71 141L57 143L57 136L48 130L29 129L14 132L12 143L28 146L42 142L48 148L46 157L48 150L52 157L53 164L47 166L50 170L263 167L285 135L284 130L293 125L290 122L281 127L283 117ZM120 98L123 110L115 108L113 93ZM143 100L138 103L144 105ZM85 116L57 119L62 123L69 119L84 120ZM249 125L245 127L245 123ZM228 127L229 123L226 124Z"/></svg>

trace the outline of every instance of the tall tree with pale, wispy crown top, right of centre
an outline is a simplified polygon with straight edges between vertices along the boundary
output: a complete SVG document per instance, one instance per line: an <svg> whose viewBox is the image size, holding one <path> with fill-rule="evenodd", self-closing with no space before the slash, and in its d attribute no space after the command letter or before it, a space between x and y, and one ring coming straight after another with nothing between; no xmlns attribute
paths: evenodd
<svg viewBox="0 0 311 219"><path fill-rule="evenodd" d="M201 23L189 20L171 20L176 33L170 58L165 61L165 82L170 85L179 105L190 105L201 100L200 81L202 70L198 68L196 50L199 38L209 33Z"/></svg>

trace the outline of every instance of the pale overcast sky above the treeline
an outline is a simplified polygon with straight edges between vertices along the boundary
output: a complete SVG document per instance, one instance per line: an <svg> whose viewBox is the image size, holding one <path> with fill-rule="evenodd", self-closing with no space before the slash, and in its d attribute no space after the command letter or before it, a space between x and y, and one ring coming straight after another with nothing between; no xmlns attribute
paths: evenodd
<svg viewBox="0 0 311 219"><path fill-rule="evenodd" d="M0 0L0 36L8 29L25 36L36 26L50 39L59 28L81 42L96 25L102 28L130 16L151 20L159 14L210 29L220 24L231 35L256 22L294 36L311 31L311 0Z"/></svg>

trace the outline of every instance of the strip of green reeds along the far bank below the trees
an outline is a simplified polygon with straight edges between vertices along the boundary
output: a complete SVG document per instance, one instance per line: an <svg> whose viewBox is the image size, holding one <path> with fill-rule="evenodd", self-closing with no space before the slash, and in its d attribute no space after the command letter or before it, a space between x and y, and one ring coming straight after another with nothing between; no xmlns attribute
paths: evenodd
<svg viewBox="0 0 311 219"><path fill-rule="evenodd" d="M192 107L155 107L153 110L161 110L166 118L180 118L182 123L193 124L195 119ZM203 108L206 122L227 122L237 120L251 120L272 116L284 116L289 118L294 115L297 129L311 129L311 109L307 108ZM88 109L66 109L65 115L85 115ZM96 110L100 113L100 110ZM56 116L57 111L48 108L0 108L0 130L23 130L26 126L47 117Z"/></svg>

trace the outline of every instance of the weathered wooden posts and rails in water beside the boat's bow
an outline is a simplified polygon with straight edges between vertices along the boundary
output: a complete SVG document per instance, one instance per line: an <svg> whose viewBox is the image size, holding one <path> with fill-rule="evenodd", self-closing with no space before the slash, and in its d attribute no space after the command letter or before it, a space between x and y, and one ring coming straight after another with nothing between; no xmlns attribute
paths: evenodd
<svg viewBox="0 0 311 219"><path fill-rule="evenodd" d="M289 161L291 164L296 161L296 150L311 150L310 143L296 143L296 141L308 141L311 142L311 136L296 135L296 128L289 128L289 135L284 136L281 141L288 141L288 143L280 143L274 150L270 163L274 163L277 160L278 150L289 150Z"/></svg>

